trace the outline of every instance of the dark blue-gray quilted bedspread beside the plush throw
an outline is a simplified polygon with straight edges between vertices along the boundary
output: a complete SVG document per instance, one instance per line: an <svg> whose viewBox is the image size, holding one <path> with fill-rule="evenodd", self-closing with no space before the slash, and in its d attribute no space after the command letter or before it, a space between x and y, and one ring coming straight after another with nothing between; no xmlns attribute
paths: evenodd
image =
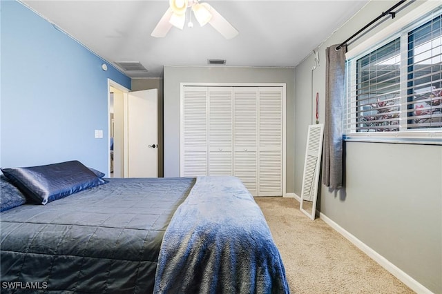
<svg viewBox="0 0 442 294"><path fill-rule="evenodd" d="M3 293L152 293L162 237L195 179L108 179L1 213Z"/></svg>

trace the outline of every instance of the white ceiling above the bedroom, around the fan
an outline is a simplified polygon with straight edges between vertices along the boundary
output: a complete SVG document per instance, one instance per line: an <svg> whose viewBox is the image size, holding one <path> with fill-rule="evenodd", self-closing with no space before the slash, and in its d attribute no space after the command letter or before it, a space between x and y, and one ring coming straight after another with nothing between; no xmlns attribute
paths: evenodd
<svg viewBox="0 0 442 294"><path fill-rule="evenodd" d="M207 59L227 59L226 66L294 67L368 1L202 1L240 32L229 40L196 21L193 28L151 37L167 0L22 2L106 61L140 61L148 70L122 70L129 77L162 77L163 66L207 66Z"/></svg>

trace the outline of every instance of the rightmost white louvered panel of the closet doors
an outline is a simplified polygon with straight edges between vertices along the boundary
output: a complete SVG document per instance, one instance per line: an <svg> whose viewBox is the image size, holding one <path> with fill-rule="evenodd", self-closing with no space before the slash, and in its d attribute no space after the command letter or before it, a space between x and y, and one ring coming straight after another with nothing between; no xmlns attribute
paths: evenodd
<svg viewBox="0 0 442 294"><path fill-rule="evenodd" d="M258 88L258 195L282 195L282 88Z"/></svg>

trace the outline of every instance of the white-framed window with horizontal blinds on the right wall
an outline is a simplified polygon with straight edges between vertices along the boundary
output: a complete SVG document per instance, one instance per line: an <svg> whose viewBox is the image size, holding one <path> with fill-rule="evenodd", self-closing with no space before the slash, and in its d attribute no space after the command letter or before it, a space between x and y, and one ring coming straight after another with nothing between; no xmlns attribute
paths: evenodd
<svg viewBox="0 0 442 294"><path fill-rule="evenodd" d="M346 139L442 144L441 14L347 60Z"/></svg>

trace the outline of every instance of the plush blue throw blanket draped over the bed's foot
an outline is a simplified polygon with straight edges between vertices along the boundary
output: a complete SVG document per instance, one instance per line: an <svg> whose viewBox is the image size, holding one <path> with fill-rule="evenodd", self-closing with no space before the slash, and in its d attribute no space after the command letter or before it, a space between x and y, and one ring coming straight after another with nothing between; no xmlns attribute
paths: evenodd
<svg viewBox="0 0 442 294"><path fill-rule="evenodd" d="M236 177L198 177L164 234L155 293L289 293L278 248Z"/></svg>

